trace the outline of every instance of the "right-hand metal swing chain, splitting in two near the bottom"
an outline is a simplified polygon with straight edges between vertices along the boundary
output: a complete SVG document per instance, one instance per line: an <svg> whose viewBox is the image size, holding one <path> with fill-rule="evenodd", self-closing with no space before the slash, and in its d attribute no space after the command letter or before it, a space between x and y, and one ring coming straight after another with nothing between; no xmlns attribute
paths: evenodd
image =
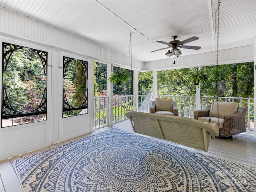
<svg viewBox="0 0 256 192"><path fill-rule="evenodd" d="M218 20L217 20L217 12L218 12ZM208 120L208 124L210 124L210 122L211 122L211 118L212 118L212 110L213 110L213 106L214 106L214 101L215 101L215 100L217 100L218 126L220 126L220 118L219 118L219 103L218 103L219 23L220 23L220 0L218 0L218 8L217 8L217 10L215 11L215 33L217 33L216 71L215 71L215 76L216 76L216 81L215 81L215 92L214 92L214 97L213 97L213 100L212 100L212 107L211 107L211 110L210 110L210 118L209 118L209 120Z"/></svg>

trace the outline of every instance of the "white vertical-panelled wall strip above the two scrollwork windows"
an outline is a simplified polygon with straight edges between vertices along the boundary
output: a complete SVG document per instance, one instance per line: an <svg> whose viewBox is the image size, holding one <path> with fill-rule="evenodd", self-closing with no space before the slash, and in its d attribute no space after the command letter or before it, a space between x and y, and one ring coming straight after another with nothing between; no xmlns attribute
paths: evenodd
<svg viewBox="0 0 256 192"><path fill-rule="evenodd" d="M0 8L0 32L70 50L98 60L130 66L129 56L88 42L3 8ZM132 62L136 69L144 68L143 62L138 60L133 60Z"/></svg>

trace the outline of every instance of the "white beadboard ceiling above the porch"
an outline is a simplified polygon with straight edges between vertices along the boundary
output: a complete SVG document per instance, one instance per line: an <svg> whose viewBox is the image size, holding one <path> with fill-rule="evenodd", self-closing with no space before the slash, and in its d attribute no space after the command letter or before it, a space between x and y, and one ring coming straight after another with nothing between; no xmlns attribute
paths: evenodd
<svg viewBox="0 0 256 192"><path fill-rule="evenodd" d="M219 50L253 44L256 0L220 1ZM166 59L172 36L199 40L182 56L216 50L218 0L0 0L0 6L142 62ZM182 57L180 56L180 57Z"/></svg>

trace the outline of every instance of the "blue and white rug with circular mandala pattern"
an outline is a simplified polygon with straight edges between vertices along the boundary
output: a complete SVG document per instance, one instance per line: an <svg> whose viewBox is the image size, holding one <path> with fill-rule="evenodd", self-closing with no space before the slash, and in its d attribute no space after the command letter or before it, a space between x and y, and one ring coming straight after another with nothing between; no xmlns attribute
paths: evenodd
<svg viewBox="0 0 256 192"><path fill-rule="evenodd" d="M25 192L256 192L253 167L118 129L13 165Z"/></svg>

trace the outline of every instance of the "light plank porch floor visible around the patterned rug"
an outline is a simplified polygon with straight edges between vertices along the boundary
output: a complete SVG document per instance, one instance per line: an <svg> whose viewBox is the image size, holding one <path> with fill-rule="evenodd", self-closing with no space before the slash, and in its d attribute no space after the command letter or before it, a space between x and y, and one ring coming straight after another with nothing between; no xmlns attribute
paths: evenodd
<svg viewBox="0 0 256 192"><path fill-rule="evenodd" d="M51 145L40 150L32 151L30 153L23 154L21 156L16 156L11 158L10 160L3 160L0 162L0 192L22 192L22 188L20 186L20 182L16 176L16 173L12 167L10 161L16 158L24 158L31 154L35 154L37 152L47 150L49 148L53 148L62 144L66 144L68 142L72 142L74 140L84 138L86 136L90 136L92 134L96 134L98 132L103 132L112 128L119 128L128 132L133 132L132 126L130 124L130 120L125 120L119 123L114 124L113 126L107 126L104 128L100 128L95 130L94 132L86 135L82 135L80 137L72 138L61 143ZM192 150L198 153L222 158L225 160L229 160L232 162L237 162L240 164L252 166L256 170L256 139L253 136L253 131L247 131L245 133L237 134L233 136L232 140L222 140L222 139L214 139L210 141L210 146L208 152L203 152L200 150L196 150L193 148L185 147L179 144L175 144L173 142L168 142L166 140L161 140L153 137L149 137L154 140L158 140L161 142L166 142L175 146L179 146L182 148L186 148L188 150Z"/></svg>

